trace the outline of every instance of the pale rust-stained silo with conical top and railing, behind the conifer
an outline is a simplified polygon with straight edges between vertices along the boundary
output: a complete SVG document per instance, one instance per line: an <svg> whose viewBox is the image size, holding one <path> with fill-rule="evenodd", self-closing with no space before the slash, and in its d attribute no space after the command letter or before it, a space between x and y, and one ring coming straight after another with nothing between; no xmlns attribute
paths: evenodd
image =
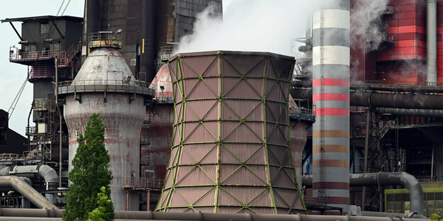
<svg viewBox="0 0 443 221"><path fill-rule="evenodd" d="M139 176L140 132L146 101L153 89L136 81L112 40L92 41L93 50L74 81L62 82L59 94L65 96L65 120L70 134L69 166L77 152L77 137L84 133L89 116L99 113L105 125L104 142L111 162L111 200L115 210L126 209L125 177ZM102 38L106 38L103 36ZM91 44L91 42L89 42ZM91 46L91 45L90 45ZM138 210L138 194L129 193L128 209Z"/></svg>

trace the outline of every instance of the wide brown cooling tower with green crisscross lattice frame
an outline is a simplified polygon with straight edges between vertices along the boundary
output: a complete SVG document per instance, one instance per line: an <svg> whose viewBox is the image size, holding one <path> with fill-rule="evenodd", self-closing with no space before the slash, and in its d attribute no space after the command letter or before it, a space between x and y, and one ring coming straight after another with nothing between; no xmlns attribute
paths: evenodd
<svg viewBox="0 0 443 221"><path fill-rule="evenodd" d="M168 62L173 147L157 210L305 213L290 149L294 63L283 55L226 51Z"/></svg>

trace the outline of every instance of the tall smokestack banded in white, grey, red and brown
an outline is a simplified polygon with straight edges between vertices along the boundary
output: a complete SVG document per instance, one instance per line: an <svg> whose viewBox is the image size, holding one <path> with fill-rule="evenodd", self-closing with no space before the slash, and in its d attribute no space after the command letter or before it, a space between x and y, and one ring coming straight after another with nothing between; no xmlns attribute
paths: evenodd
<svg viewBox="0 0 443 221"><path fill-rule="evenodd" d="M314 198L327 205L349 207L349 0L331 0L333 6L312 18L312 99ZM338 212L327 212L338 215Z"/></svg>

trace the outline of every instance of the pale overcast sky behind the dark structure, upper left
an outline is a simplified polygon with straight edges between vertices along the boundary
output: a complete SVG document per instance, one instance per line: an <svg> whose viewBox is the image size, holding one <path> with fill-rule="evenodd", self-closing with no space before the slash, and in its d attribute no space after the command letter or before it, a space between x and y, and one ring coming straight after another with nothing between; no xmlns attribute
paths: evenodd
<svg viewBox="0 0 443 221"><path fill-rule="evenodd" d="M65 9L65 16L83 16L84 0L65 0L60 13ZM229 10L229 4L234 0L223 0L223 10ZM241 1L241 0L237 0ZM0 1L0 19L21 18L29 16L55 16L63 0L15 0ZM21 23L13 23L21 33ZM18 47L19 38L9 23L0 23L0 109L9 110L13 99L16 97L23 81L26 79L27 67L22 64L9 62L9 47ZM25 135L28 125L28 113L32 103L32 84L26 83L26 87L17 103L15 111L9 120L9 128L21 135ZM11 112L11 111L10 111ZM32 122L31 122L31 125Z"/></svg>

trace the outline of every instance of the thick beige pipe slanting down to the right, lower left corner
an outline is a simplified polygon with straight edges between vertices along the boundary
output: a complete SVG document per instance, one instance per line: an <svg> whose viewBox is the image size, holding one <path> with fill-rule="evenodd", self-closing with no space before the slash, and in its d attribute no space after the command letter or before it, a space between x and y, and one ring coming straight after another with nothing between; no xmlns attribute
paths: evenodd
<svg viewBox="0 0 443 221"><path fill-rule="evenodd" d="M0 176L0 188L1 187L14 188L18 193L21 193L21 195L25 196L38 208L57 208L53 203L50 203L40 193L35 191L32 186L29 186L28 183L21 179L18 179L17 176Z"/></svg>

